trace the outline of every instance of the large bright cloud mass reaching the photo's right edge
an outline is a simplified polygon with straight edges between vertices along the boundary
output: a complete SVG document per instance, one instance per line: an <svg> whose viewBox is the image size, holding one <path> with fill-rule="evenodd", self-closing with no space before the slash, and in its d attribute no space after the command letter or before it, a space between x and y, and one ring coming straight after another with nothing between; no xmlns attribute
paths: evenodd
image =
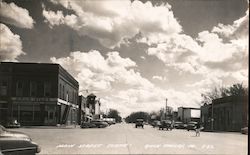
<svg viewBox="0 0 250 155"><path fill-rule="evenodd" d="M163 61L166 68L174 68L181 73L200 74L206 78L197 82L197 86L212 84L214 79L210 74L224 75L220 80L231 78L235 81L247 81L239 70L248 69L248 11L244 17L232 25L218 24L213 30L202 31L193 39L188 35L178 33L172 36L162 34L161 41L149 47L148 55L156 56ZM148 43L141 38L140 42ZM245 75L245 74L244 74ZM237 79L238 78L238 79Z"/></svg>

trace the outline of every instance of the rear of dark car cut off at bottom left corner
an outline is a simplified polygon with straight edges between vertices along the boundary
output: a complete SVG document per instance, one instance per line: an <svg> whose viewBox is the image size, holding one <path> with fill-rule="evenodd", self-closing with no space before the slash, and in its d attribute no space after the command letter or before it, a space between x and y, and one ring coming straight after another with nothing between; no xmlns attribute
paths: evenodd
<svg viewBox="0 0 250 155"><path fill-rule="evenodd" d="M31 155L41 151L38 144L21 132L9 131L0 125L0 153L4 155Z"/></svg>

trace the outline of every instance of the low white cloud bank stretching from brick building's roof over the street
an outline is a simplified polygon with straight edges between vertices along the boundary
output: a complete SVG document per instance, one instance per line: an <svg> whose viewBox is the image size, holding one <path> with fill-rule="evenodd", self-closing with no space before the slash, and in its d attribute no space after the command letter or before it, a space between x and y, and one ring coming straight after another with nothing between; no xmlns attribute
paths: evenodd
<svg viewBox="0 0 250 155"><path fill-rule="evenodd" d="M52 57L51 61L61 64L76 77L81 91L88 89L98 93L103 111L115 108L123 116L132 111L149 112L164 107L166 98L175 109L178 106L198 107L200 102L196 91L187 93L158 88L135 71L137 65L134 61L122 58L115 51L107 53L106 58L96 50L77 51L71 52L68 57Z"/></svg>

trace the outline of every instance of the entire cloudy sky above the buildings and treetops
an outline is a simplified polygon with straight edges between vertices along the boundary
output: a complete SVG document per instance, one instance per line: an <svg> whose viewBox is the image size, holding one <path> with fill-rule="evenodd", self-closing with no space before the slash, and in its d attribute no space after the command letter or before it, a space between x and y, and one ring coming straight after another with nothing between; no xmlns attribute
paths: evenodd
<svg viewBox="0 0 250 155"><path fill-rule="evenodd" d="M59 63L122 116L248 84L247 0L0 0L0 61Z"/></svg>

